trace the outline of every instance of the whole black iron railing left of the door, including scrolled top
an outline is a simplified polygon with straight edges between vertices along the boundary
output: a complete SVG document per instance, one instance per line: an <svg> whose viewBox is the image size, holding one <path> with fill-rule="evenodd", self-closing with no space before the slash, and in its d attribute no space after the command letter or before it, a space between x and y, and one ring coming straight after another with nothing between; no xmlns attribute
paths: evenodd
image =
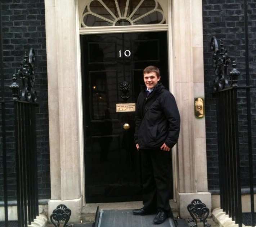
<svg viewBox="0 0 256 227"><path fill-rule="evenodd" d="M4 225L0 221L0 226L5 227L10 223L8 206L11 200L17 200L18 227L30 225L39 215L36 150L38 105L37 94L33 89L34 61L35 51L31 48L29 53L25 52L21 67L18 73L13 75L13 82L9 86L12 90L12 101L5 101L4 99L10 98L3 96L0 106L0 167L3 168L3 183L0 182L0 186L3 187L5 211ZM22 81L21 86L17 82L18 79Z"/></svg>

